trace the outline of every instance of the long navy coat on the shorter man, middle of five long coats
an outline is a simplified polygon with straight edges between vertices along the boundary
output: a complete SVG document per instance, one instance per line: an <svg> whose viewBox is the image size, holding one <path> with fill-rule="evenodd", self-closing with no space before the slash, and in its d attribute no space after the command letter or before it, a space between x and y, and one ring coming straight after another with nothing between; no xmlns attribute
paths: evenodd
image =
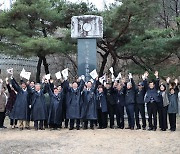
<svg viewBox="0 0 180 154"><path fill-rule="evenodd" d="M58 95L55 95L50 87L48 92L50 96L48 123L60 125L62 122L62 104L64 92L61 91L58 93Z"/></svg>

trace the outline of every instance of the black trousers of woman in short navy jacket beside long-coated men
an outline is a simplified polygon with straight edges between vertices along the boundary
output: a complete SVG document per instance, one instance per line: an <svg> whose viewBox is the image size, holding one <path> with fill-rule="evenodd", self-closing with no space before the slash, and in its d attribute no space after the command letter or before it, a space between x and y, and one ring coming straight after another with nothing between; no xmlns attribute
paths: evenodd
<svg viewBox="0 0 180 154"><path fill-rule="evenodd" d="M98 109L98 124L99 128L107 128L107 114Z"/></svg>

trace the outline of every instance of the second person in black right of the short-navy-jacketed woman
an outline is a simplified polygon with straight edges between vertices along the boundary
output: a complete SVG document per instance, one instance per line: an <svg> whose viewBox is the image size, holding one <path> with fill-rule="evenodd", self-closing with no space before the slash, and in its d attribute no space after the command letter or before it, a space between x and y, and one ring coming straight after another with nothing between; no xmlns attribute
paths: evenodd
<svg viewBox="0 0 180 154"><path fill-rule="evenodd" d="M120 129L124 128L124 106L125 106L125 86L118 83L115 89L115 102L116 102L116 121Z"/></svg>

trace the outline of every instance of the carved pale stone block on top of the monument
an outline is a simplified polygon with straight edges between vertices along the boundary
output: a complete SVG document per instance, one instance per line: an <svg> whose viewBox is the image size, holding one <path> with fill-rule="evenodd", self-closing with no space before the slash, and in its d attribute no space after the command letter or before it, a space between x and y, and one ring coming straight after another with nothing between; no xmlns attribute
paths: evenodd
<svg viewBox="0 0 180 154"><path fill-rule="evenodd" d="M103 38L103 18L95 15L71 18L72 38Z"/></svg>

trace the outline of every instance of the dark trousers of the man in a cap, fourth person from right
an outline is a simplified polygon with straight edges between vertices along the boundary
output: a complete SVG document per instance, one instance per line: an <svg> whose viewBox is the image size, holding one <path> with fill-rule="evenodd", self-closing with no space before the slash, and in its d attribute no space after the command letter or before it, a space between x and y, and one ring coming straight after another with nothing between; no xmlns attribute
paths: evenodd
<svg viewBox="0 0 180 154"><path fill-rule="evenodd" d="M142 118L142 127L146 128L146 117L145 117L145 105L144 104L135 104L135 118L136 118L136 126L137 128L141 128L139 123L139 113L141 114Z"/></svg>

